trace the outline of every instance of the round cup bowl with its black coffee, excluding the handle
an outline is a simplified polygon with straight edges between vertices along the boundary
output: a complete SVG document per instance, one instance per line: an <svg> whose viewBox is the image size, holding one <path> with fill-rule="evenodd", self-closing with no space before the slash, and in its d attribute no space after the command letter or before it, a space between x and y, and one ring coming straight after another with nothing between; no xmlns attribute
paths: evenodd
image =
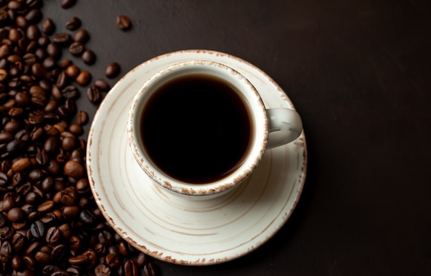
<svg viewBox="0 0 431 276"><path fill-rule="evenodd" d="M244 76L220 63L188 61L143 85L127 133L136 161L157 184L218 196L257 167L267 126L262 99Z"/></svg>

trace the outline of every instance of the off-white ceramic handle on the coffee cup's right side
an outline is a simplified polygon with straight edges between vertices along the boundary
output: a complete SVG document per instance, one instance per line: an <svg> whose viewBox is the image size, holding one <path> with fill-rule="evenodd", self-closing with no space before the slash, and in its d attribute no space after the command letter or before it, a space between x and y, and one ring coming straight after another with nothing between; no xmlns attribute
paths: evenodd
<svg viewBox="0 0 431 276"><path fill-rule="evenodd" d="M302 120L299 114L288 108L266 109L268 116L268 145L266 149L272 149L292 142L302 133Z"/></svg>

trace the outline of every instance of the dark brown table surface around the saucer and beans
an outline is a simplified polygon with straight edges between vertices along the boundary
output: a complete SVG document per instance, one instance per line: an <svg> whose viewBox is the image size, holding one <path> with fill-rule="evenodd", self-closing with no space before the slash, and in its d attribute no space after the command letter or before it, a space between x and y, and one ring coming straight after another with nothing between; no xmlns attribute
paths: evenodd
<svg viewBox="0 0 431 276"><path fill-rule="evenodd" d="M232 262L156 262L162 275L431 275L430 1L59 3L44 1L44 18L56 32L81 18L94 78L111 61L122 76L167 52L216 50L260 67L302 116L308 171L284 227Z"/></svg>

